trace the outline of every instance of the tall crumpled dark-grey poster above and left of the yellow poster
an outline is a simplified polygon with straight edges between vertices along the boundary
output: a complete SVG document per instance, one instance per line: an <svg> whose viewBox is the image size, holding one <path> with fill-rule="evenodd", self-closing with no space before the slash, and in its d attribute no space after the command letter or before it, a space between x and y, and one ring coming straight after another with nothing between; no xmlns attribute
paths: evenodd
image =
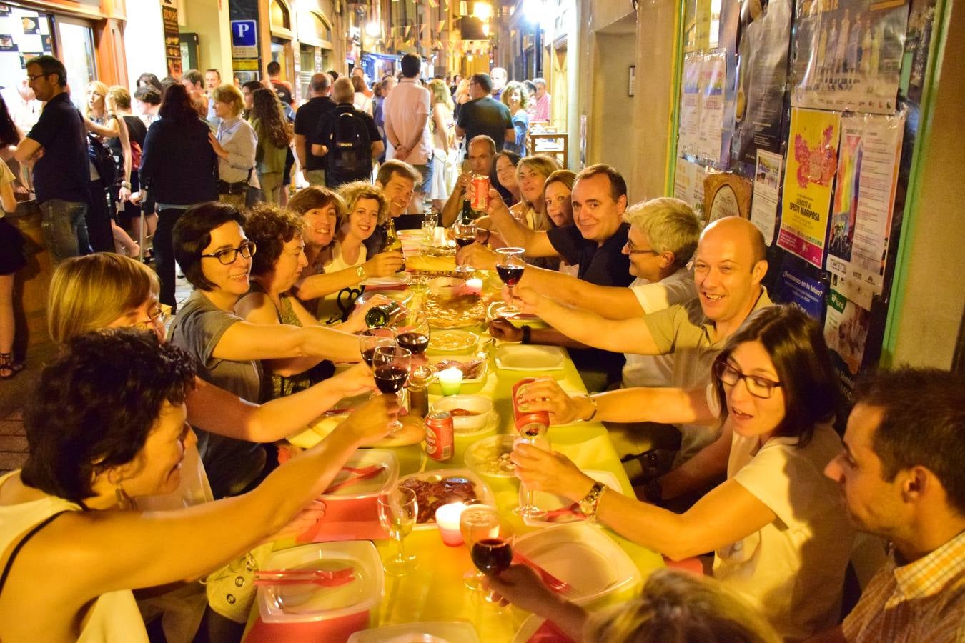
<svg viewBox="0 0 965 643"><path fill-rule="evenodd" d="M733 158L754 165L756 150L781 152L791 0L771 0L738 46Z"/></svg>

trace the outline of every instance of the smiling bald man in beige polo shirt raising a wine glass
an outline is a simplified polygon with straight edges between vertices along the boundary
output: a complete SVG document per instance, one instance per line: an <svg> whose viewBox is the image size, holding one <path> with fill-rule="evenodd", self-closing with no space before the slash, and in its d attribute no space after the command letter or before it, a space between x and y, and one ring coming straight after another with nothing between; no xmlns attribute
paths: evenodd
<svg viewBox="0 0 965 643"><path fill-rule="evenodd" d="M705 387L710 383L713 361L727 338L752 312L772 305L761 285L767 274L766 250L758 228L746 219L728 217L703 228L694 258L697 299L686 304L629 319L606 319L589 310L558 304L525 285L516 286L515 304L595 348L673 355L671 386ZM718 438L716 431L699 425L681 425L680 434L675 466ZM625 451L627 447L623 446ZM706 469L722 471L726 464L715 461Z"/></svg>

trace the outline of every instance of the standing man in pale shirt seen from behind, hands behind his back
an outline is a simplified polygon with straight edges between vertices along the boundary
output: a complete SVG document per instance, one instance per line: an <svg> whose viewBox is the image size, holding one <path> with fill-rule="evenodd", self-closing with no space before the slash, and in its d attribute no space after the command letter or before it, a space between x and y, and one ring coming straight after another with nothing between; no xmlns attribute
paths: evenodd
<svg viewBox="0 0 965 643"><path fill-rule="evenodd" d="M385 98L385 157L405 161L423 176L416 186L409 212L422 214L423 197L432 184L432 136L428 129L429 94L419 83L422 59L415 54L402 56L402 79Z"/></svg>

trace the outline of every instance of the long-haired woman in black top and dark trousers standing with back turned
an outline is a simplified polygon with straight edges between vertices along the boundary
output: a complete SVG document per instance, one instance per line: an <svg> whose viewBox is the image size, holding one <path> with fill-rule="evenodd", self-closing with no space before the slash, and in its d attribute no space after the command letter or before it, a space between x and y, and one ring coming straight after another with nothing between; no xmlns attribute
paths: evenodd
<svg viewBox="0 0 965 643"><path fill-rule="evenodd" d="M161 304L176 308L171 232L189 207L217 200L218 157L208 142L207 122L183 85L168 88L158 114L144 139L138 178L142 207L148 213L157 210L153 248Z"/></svg>

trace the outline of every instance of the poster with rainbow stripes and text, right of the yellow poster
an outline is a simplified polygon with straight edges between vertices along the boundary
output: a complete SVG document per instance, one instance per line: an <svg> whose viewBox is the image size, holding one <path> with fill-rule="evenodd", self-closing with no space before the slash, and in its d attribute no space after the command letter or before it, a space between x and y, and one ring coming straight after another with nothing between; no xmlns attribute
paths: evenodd
<svg viewBox="0 0 965 643"><path fill-rule="evenodd" d="M904 112L841 117L827 270L835 289L866 310L884 281L903 133Z"/></svg>

